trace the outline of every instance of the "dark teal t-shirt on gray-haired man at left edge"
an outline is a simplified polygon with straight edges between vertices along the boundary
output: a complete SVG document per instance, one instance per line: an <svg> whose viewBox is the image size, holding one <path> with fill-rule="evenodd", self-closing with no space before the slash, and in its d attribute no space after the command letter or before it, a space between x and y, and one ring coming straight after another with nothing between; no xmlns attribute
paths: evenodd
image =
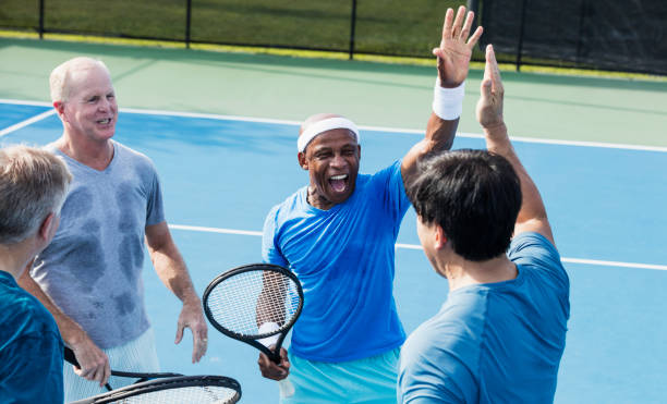
<svg viewBox="0 0 667 404"><path fill-rule="evenodd" d="M0 403L62 403L62 339L51 314L0 271Z"/></svg>

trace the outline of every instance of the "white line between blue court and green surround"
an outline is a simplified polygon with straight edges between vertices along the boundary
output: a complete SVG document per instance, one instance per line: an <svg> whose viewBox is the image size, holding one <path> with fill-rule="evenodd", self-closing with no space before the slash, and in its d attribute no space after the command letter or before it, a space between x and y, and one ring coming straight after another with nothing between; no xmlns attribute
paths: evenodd
<svg viewBox="0 0 667 404"><path fill-rule="evenodd" d="M25 106L34 106L34 107L51 107L50 103L43 102L43 101L22 101L22 100L5 99L5 98L0 98L0 103L25 105ZM146 114L146 115L183 117L183 118L209 119L209 120L217 120L217 121L274 123L274 124L295 125L295 126L301 125L301 121L290 121L290 120L280 120L280 119L270 119L270 118L240 117L240 115L222 115L222 114L202 113L202 112L163 111L163 110L137 109L137 108L120 108L119 111L126 112L126 113L135 113L135 114ZM54 113L54 112L51 112L51 113ZM27 126L31 123L33 122L29 122L24 126ZM0 137L11 132L17 131L24 126L15 127L12 131L9 131L9 130L12 128L13 126L9 126L0 132L1 134ZM414 130L414 128L400 128L400 127L397 128L397 127L384 127L384 126L373 126L373 125L359 125L359 127L363 131L373 131L373 132L405 133L405 134L416 134L416 135L424 134L423 130ZM9 131L9 132L5 132L5 131ZM469 133L469 132L458 132L457 137L484 139L483 134ZM558 145L558 146L577 146L577 147L593 147L593 148L607 148L607 149L667 152L667 147L660 147L660 146L642 146L642 145L628 145L628 144L618 144L618 143L563 140L563 139L548 139L548 138L543 139L543 138L525 137L525 136L510 136L510 139L512 142L520 142L520 143L536 143L536 144Z"/></svg>

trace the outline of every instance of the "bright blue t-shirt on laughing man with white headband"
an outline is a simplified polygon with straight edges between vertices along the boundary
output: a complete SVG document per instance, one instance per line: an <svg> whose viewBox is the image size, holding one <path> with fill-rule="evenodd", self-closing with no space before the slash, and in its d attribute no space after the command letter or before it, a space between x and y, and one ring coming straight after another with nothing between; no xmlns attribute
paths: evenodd
<svg viewBox="0 0 667 404"><path fill-rule="evenodd" d="M291 352L318 362L369 357L400 346L405 333L392 296L395 244L410 201L401 162L359 175L342 204L320 210L303 187L274 207L262 256L289 267L303 285L304 307Z"/></svg>

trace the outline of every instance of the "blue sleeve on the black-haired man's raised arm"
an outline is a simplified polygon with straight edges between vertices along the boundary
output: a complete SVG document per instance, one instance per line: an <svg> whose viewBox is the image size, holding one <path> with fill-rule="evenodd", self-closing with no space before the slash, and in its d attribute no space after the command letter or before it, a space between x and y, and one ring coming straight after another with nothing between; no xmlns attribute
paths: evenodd
<svg viewBox="0 0 667 404"><path fill-rule="evenodd" d="M525 232L512 238L508 257L517 265L544 271L560 287L569 290L570 281L556 247L539 233Z"/></svg>

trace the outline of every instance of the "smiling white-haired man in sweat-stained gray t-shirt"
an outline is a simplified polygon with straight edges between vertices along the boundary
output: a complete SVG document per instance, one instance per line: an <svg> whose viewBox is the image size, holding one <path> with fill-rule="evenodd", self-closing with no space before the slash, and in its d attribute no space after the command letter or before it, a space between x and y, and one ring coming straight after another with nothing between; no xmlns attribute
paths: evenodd
<svg viewBox="0 0 667 404"><path fill-rule="evenodd" d="M63 134L47 149L65 160L74 181L59 232L21 284L51 311L81 365L64 366L72 401L101 392L110 366L158 368L141 277L144 241L159 278L183 302L175 342L191 329L193 363L206 352L207 327L165 221L153 162L112 140L118 105L109 70L74 58L53 70L50 89Z"/></svg>

